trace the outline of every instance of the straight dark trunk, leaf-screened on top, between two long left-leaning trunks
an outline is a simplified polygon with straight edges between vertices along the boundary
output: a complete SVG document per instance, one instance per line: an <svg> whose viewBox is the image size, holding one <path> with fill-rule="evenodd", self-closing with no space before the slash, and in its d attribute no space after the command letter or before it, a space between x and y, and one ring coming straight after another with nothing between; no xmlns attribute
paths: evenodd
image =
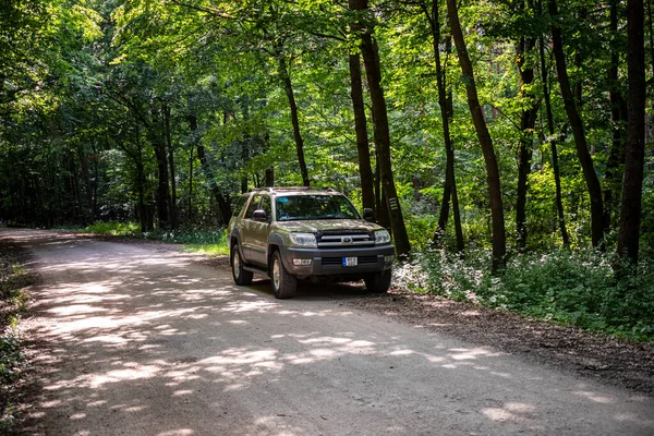
<svg viewBox="0 0 654 436"><path fill-rule="evenodd" d="M530 88L534 82L533 65L525 68L524 59L533 50L536 43L532 38L522 37L518 53L518 68L520 70L520 95L530 101L525 95L525 88ZM531 172L531 159L533 148L533 131L536 124L538 108L533 102L522 110L520 116L520 144L518 146L518 189L516 199L516 245L519 252L526 249L526 193L528 179Z"/></svg>

